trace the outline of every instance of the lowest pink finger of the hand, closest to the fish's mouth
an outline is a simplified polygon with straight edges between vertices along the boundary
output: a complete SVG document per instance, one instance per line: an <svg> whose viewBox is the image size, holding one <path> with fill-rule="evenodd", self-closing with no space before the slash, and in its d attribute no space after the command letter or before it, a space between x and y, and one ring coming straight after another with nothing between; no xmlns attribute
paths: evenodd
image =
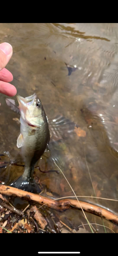
<svg viewBox="0 0 118 256"><path fill-rule="evenodd" d="M11 83L0 81L0 93L13 97L16 95L17 90Z"/></svg>

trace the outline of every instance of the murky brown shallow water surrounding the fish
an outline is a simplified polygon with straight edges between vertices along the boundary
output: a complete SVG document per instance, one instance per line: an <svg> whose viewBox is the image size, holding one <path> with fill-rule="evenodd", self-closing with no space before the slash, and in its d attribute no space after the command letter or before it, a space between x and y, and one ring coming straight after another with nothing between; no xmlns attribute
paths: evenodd
<svg viewBox="0 0 118 256"><path fill-rule="evenodd" d="M12 83L18 94L26 97L36 92L50 120L62 115L78 127L50 122L53 137L48 162L55 169L52 159L57 161L79 196L118 198L117 31L118 24L0 25L0 42L13 47L7 68L14 76ZM1 153L9 151L14 159L20 152L16 147L19 124L14 120L19 115L8 108L5 99L1 94ZM1 180L9 183L22 171L21 167L8 166L1 169ZM44 191L56 197L73 196L61 173L36 170L36 176ZM89 201L117 212L117 202ZM74 225L86 223L82 212L67 210L60 214L62 218L65 215ZM86 216L103 224L99 217ZM117 232L115 225L104 223ZM99 230L104 232L103 227Z"/></svg>

